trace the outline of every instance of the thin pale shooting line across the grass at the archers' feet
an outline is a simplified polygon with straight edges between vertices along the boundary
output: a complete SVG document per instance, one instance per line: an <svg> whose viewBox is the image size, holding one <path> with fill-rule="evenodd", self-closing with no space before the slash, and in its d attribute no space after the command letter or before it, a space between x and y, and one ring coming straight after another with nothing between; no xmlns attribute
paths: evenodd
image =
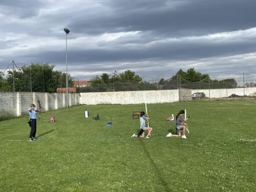
<svg viewBox="0 0 256 192"><path fill-rule="evenodd" d="M146 137L144 137L146 138ZM166 136L156 136L156 137L151 137L150 139L158 139L158 138L168 138ZM79 140L89 140L89 139L134 139L134 137L91 137L91 138L73 138L73 139L37 139L35 142L38 141L79 141ZM138 138L137 138L138 139ZM143 139L140 137L139 139ZM28 140L2 140L0 142L11 142L11 141L28 141Z"/></svg>

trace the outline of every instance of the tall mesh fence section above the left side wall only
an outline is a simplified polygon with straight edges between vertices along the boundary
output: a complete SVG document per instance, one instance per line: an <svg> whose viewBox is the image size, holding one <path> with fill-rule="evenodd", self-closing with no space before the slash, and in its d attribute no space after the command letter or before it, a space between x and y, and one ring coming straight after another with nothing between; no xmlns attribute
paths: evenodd
<svg viewBox="0 0 256 192"><path fill-rule="evenodd" d="M0 91L66 92L66 73L54 71L54 66L49 63L25 64L0 57ZM68 75L68 87L73 88L70 75Z"/></svg>

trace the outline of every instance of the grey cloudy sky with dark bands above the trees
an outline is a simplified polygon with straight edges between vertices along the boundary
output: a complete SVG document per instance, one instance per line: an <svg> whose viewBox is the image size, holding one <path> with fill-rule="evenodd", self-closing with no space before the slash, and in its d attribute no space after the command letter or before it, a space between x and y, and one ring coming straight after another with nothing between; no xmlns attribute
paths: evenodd
<svg viewBox="0 0 256 192"><path fill-rule="evenodd" d="M255 0L1 0L0 70L49 62L90 80L115 70L146 80L195 68L256 81Z"/></svg>

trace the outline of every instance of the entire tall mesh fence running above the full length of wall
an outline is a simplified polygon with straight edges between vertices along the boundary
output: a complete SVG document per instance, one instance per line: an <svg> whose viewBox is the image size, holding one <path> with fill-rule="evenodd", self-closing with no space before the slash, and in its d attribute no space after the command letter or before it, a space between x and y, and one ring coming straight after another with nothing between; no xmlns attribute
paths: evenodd
<svg viewBox="0 0 256 192"><path fill-rule="evenodd" d="M24 65L26 67L24 67ZM0 91L16 92L66 92L66 73L49 71L51 66L35 66L0 57ZM3 66L5 69L3 69ZM30 66L30 67L29 67ZM48 71L47 71L48 70ZM3 74L4 72L4 74ZM252 74L213 77L206 75L200 81L191 82L181 75L174 75L169 79L160 78L150 81L136 82L114 78L108 83L90 81L79 77L68 76L69 92L113 92L113 91L145 91L169 89L231 89L239 87L255 87ZM95 79L95 77L93 77ZM256 78L256 75L255 77ZM144 79L144 78L143 78Z"/></svg>

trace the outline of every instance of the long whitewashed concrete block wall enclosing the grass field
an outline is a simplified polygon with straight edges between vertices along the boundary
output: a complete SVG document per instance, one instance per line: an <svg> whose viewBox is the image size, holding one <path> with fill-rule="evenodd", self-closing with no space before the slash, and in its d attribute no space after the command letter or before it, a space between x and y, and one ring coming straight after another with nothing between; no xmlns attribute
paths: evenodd
<svg viewBox="0 0 256 192"><path fill-rule="evenodd" d="M94 92L69 93L69 106L86 104L140 104L140 103L171 103L189 101L195 92L204 92L206 97L222 98L236 95L251 95L256 87L236 89L198 89L198 90L156 90L156 91L120 91L120 92ZM185 98L185 100L184 100ZM20 116L28 113L31 103L39 109L40 101L42 111L56 110L66 107L66 93L31 93L31 92L0 92L0 115Z"/></svg>

